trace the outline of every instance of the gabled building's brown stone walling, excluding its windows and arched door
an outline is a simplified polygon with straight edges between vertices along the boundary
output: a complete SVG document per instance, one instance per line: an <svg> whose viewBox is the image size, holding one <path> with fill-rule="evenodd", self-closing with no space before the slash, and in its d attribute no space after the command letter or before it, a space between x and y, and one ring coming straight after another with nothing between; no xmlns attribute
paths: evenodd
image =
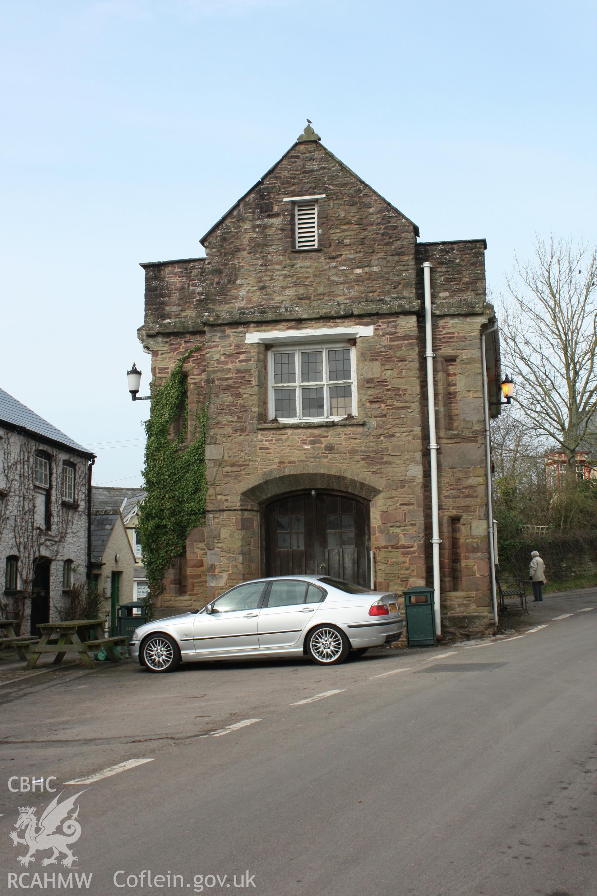
<svg viewBox="0 0 597 896"><path fill-rule="evenodd" d="M295 252L294 207L283 200L318 194L319 248ZM185 362L190 404L210 390L206 524L168 573L160 611L201 606L259 575L260 503L306 487L371 501L378 587L431 582L421 272L431 261L444 625L476 632L490 624L479 340L493 314L485 244L416 244L417 234L325 147L303 142L204 237L206 259L143 265L140 337L154 376L199 344ZM247 330L368 323L374 335L356 342L358 417L270 422L267 349L247 345Z"/></svg>

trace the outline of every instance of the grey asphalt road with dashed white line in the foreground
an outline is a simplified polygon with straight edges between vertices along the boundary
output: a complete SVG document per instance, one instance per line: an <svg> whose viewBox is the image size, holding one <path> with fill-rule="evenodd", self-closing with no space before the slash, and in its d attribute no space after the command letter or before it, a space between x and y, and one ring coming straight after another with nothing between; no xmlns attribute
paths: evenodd
<svg viewBox="0 0 597 896"><path fill-rule="evenodd" d="M68 873L49 852L23 868L8 839L52 796L8 778L55 775L60 800L84 790L72 871L91 893L594 896L597 599L561 606L524 637L337 668L129 663L2 688L0 892ZM152 762L64 784L134 758Z"/></svg>

